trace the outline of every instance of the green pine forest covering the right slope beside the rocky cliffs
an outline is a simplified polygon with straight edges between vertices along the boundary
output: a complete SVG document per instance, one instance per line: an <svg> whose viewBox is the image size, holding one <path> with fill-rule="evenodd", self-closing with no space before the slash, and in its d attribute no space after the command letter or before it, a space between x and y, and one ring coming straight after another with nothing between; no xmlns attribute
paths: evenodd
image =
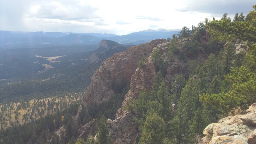
<svg viewBox="0 0 256 144"><path fill-rule="evenodd" d="M152 57L159 66L154 83L149 92L141 91L138 100L128 105L140 115L138 143L196 143L208 124L243 113L256 101L256 5L253 7L246 17L241 13L231 20L225 13L221 20L205 19L196 30L184 27L179 39L193 36L185 42L191 52L198 50L204 36L211 35L205 47L210 54L204 63L188 66L191 73L187 81L177 75L169 90L163 64ZM179 51L175 41L173 37L169 47L174 52ZM244 42L246 50L240 49ZM221 49L216 52L218 43Z"/></svg>

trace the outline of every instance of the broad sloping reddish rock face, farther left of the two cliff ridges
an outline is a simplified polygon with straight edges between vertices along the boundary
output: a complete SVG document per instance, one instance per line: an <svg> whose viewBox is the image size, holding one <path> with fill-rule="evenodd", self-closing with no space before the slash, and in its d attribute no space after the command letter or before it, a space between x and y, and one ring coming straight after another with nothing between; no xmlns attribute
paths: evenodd
<svg viewBox="0 0 256 144"><path fill-rule="evenodd" d="M138 61L143 56L148 57L154 47L165 42L167 42L165 39L153 40L146 44L130 47L125 52L116 53L105 60L92 76L91 84L87 87L81 106L90 106L92 103L99 104L101 101L107 101L114 93L112 90L113 80L116 83L120 82L121 79L130 81ZM77 116L79 116L81 108L79 108Z"/></svg>

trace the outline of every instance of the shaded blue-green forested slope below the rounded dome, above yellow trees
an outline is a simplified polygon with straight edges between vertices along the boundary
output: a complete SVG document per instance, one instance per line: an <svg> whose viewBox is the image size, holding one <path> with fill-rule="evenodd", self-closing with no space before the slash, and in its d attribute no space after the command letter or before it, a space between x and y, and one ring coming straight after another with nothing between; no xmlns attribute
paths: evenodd
<svg viewBox="0 0 256 144"><path fill-rule="evenodd" d="M21 73L23 72L21 70L24 70L24 68L20 68L19 71L15 71L20 75L22 74L18 78L12 77L12 79L0 81L0 100L2 102L9 102L11 100L18 101L20 98L29 100L63 92L83 92L84 88L90 84L94 71L100 67L102 61L111 57L116 52L125 51L128 47L129 45L121 45L114 41L102 40L99 47L94 51L70 54L53 59L52 61L55 62L49 62L46 58L41 57L39 58L41 61L38 60L35 64L39 66L47 64L48 68L38 70L35 67L33 67L34 69L24 67L27 68L26 70L28 72L31 69L34 71L38 70L34 74L28 73L27 71ZM98 60L92 61L92 55L97 56ZM21 62L23 61L19 61L20 63L16 62L16 65L20 64L19 67L22 67ZM31 65L28 64L28 66ZM4 70L6 69L0 69L1 72ZM9 73L9 75L13 74L12 71L9 71ZM27 73L30 75L26 75ZM0 76L4 76L4 73L1 74Z"/></svg>

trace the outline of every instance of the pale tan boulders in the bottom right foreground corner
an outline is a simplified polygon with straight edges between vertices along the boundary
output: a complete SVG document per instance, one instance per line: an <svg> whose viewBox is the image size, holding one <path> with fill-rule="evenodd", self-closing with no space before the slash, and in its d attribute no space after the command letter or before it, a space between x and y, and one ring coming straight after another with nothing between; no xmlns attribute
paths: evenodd
<svg viewBox="0 0 256 144"><path fill-rule="evenodd" d="M228 116L204 129L204 144L255 144L256 103L245 115Z"/></svg>

